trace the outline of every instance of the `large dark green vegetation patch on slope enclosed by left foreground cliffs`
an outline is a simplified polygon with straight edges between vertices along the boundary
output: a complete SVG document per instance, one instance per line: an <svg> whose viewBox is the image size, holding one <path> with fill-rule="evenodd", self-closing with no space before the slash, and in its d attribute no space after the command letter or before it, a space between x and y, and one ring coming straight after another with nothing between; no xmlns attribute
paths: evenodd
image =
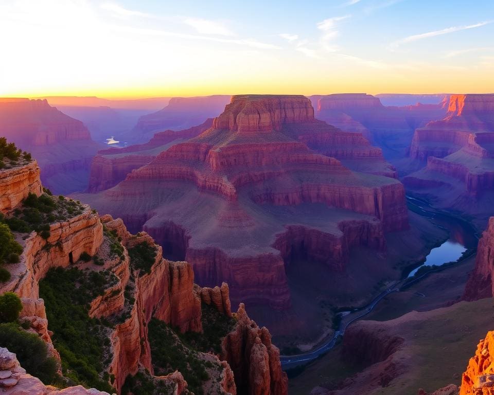
<svg viewBox="0 0 494 395"><path fill-rule="evenodd" d="M48 326L62 360L69 384L83 384L113 392L105 375L111 362L109 322L90 318L89 303L118 279L108 271L51 269L40 281L40 296L45 300ZM77 341L74 341L77 339Z"/></svg>

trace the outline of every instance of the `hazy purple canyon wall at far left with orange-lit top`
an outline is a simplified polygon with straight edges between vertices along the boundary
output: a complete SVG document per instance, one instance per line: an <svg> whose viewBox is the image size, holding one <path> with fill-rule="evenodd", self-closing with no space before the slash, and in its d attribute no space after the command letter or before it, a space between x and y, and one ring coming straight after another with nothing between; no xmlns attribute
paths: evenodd
<svg viewBox="0 0 494 395"><path fill-rule="evenodd" d="M87 187L91 158L100 147L81 121L47 100L0 100L0 136L37 159L41 181L56 193Z"/></svg>

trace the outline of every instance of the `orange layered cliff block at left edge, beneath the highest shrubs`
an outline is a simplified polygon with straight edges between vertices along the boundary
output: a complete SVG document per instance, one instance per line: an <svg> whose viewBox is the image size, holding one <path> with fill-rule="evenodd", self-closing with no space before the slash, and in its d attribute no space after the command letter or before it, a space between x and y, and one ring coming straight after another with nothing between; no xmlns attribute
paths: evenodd
<svg viewBox="0 0 494 395"><path fill-rule="evenodd" d="M40 196L43 187L36 160L25 166L0 170L0 212L5 213L19 205L29 193Z"/></svg>

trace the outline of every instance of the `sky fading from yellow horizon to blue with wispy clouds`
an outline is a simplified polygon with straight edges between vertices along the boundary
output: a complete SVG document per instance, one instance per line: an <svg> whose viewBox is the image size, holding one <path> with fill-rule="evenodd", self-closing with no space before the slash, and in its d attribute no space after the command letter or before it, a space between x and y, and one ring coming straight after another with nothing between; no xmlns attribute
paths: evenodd
<svg viewBox="0 0 494 395"><path fill-rule="evenodd" d="M492 0L0 0L0 96L492 93Z"/></svg>

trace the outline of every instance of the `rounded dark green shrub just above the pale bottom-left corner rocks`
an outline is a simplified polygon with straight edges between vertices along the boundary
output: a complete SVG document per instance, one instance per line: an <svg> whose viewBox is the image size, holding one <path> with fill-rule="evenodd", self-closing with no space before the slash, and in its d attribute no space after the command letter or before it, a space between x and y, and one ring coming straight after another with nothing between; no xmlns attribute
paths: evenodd
<svg viewBox="0 0 494 395"><path fill-rule="evenodd" d="M14 352L21 366L43 383L51 384L57 378L57 362L38 335L25 332L13 323L0 324L0 347Z"/></svg>

